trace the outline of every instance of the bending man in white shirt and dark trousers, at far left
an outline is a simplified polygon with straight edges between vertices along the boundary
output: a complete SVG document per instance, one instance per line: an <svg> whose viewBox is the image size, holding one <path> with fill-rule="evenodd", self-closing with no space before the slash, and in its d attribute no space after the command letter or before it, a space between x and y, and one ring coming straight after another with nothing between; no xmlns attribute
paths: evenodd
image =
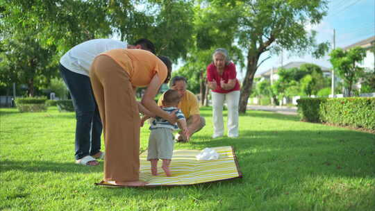
<svg viewBox="0 0 375 211"><path fill-rule="evenodd" d="M134 45L117 40L96 39L76 45L60 58L60 74L67 85L76 110L75 157L77 164L98 165L103 159L101 119L92 93L89 70L96 56L110 49L144 49L155 53L153 43L140 39Z"/></svg>

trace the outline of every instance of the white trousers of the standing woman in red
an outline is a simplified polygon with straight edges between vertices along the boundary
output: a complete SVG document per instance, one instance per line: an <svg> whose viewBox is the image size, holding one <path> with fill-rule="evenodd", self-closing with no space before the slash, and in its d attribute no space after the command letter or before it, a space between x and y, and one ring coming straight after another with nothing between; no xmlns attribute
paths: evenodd
<svg viewBox="0 0 375 211"><path fill-rule="evenodd" d="M213 98L213 124L214 136L224 135L223 105L226 100L228 107L228 136L238 136L238 103L240 102L240 91L228 92L226 94L211 92Z"/></svg>

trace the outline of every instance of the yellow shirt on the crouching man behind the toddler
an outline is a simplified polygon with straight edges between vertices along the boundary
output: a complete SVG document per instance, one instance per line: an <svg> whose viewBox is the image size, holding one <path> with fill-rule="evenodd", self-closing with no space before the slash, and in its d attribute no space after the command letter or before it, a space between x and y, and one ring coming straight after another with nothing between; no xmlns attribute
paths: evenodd
<svg viewBox="0 0 375 211"><path fill-rule="evenodd" d="M158 100L158 105L163 105L164 93L160 96ZM180 103L177 107L181 109L183 115L188 119L192 115L199 115L199 103L197 96L195 96L189 90L186 90L184 96L182 97Z"/></svg>

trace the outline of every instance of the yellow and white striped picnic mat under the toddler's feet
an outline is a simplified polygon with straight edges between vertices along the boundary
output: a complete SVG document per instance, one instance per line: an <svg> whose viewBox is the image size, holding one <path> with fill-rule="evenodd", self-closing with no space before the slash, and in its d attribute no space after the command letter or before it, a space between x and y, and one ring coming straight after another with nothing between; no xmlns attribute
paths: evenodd
<svg viewBox="0 0 375 211"><path fill-rule="evenodd" d="M175 150L169 166L170 177L161 168L161 160L158 162L158 176L152 176L147 151L144 151L140 155L140 180L147 181L147 186L193 185L242 177L232 146L212 149L219 153L218 160L197 160L199 150Z"/></svg>

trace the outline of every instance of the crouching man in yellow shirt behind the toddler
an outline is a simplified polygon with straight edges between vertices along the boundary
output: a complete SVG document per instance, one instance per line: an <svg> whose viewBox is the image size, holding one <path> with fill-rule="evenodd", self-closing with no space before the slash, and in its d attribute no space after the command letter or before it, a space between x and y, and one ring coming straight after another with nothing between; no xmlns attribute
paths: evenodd
<svg viewBox="0 0 375 211"><path fill-rule="evenodd" d="M174 76L169 83L169 87L171 87L172 90L176 90L181 97L181 101L178 103L177 107L183 112L188 124L188 133L190 134L190 137L192 137L194 133L197 133L206 125L206 119L199 114L197 96L189 90L186 90L187 83L188 81L186 81L186 78L182 76ZM163 105L163 96L164 94L160 96L158 105ZM176 140L178 142L187 141L185 135L181 132L176 134Z"/></svg>

